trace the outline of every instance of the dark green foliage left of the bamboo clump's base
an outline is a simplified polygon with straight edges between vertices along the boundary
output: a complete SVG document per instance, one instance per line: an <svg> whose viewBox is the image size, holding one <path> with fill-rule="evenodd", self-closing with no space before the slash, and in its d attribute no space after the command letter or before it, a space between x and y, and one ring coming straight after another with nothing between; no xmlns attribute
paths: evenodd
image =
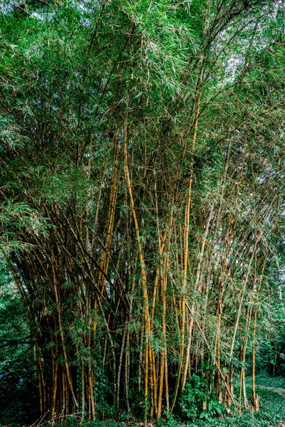
<svg viewBox="0 0 285 427"><path fill-rule="evenodd" d="M0 266L0 424L29 423L38 416L34 343L21 295Z"/></svg>

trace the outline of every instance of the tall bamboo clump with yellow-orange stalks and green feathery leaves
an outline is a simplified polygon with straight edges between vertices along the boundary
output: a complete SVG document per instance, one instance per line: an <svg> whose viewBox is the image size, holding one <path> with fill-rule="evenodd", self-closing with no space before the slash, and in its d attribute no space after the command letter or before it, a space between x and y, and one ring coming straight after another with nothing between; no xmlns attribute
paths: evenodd
<svg viewBox="0 0 285 427"><path fill-rule="evenodd" d="M6 3L1 256L41 416L160 418L192 374L258 410L284 243L282 26L280 1Z"/></svg>

